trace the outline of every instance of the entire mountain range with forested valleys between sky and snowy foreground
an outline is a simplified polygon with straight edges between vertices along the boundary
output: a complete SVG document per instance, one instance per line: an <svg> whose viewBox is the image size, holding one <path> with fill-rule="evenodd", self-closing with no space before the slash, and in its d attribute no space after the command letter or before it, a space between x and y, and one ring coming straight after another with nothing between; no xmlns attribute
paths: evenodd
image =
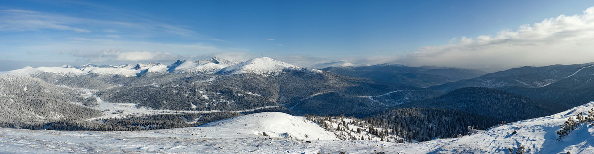
<svg viewBox="0 0 594 154"><path fill-rule="evenodd" d="M590 66L525 66L494 73L391 63L314 69L268 57L245 62L213 57L170 65L26 67L0 72L0 91L7 91L0 94L18 91L4 97L19 101L2 100L0 105L11 110L0 113L8 117L0 124L52 130L173 129L280 111L353 115L394 131L369 130L377 139L420 142L544 117L588 102L594 99ZM24 99L29 95L41 97ZM394 137L383 137L388 134Z"/></svg>

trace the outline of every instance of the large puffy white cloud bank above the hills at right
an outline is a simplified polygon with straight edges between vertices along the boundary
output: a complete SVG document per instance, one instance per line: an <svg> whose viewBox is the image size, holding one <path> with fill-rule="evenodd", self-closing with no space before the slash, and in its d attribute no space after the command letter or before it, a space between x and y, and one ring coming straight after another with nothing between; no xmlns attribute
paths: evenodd
<svg viewBox="0 0 594 154"><path fill-rule="evenodd" d="M462 37L443 46L393 58L407 65L507 69L594 62L594 7L580 15L560 15L494 36Z"/></svg>

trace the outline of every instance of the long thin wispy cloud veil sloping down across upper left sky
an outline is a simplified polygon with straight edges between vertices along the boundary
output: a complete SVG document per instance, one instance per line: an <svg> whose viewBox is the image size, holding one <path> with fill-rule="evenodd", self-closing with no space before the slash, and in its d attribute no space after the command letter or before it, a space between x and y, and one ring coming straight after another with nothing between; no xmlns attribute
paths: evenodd
<svg viewBox="0 0 594 154"><path fill-rule="evenodd" d="M118 18L112 19L75 17L69 14L20 9L0 11L0 31L38 30L69 30L84 33L122 33L120 30L126 30L125 32L131 36L178 36L188 37L187 39L218 40L185 28L183 25L172 25L140 16L119 15Z"/></svg>

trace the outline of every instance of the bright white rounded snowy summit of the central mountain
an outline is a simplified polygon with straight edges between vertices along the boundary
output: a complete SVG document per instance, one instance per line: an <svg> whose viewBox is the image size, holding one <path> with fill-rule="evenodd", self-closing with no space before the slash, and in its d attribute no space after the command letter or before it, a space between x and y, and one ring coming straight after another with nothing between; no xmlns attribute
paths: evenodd
<svg viewBox="0 0 594 154"><path fill-rule="evenodd" d="M301 69L299 66L280 62L269 57L260 57L237 63L219 70L217 73L276 73L285 69Z"/></svg>

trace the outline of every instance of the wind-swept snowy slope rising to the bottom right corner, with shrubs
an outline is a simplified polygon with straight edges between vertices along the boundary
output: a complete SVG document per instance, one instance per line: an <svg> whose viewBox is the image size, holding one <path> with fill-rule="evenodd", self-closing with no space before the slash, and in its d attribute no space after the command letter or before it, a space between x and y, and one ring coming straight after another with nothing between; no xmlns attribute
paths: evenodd
<svg viewBox="0 0 594 154"><path fill-rule="evenodd" d="M594 153L594 128L582 124L563 140L556 131L567 118L594 108L594 102L547 117L534 118L493 127L459 139L440 139L407 145L398 149L421 149L415 153L509 153L508 147L524 145L528 153ZM513 132L516 131L514 134Z"/></svg>

